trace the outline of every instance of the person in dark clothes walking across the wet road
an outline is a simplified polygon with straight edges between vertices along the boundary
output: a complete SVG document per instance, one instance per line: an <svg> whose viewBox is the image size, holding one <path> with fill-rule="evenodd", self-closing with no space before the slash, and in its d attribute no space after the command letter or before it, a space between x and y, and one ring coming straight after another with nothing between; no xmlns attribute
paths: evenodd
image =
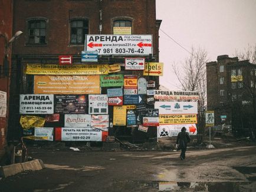
<svg viewBox="0 0 256 192"><path fill-rule="evenodd" d="M178 134L176 145L179 143L179 149L181 150L180 153L180 160L185 160L185 153L186 153L186 145L190 142L189 134L186 133L186 127L182 127L180 133Z"/></svg>

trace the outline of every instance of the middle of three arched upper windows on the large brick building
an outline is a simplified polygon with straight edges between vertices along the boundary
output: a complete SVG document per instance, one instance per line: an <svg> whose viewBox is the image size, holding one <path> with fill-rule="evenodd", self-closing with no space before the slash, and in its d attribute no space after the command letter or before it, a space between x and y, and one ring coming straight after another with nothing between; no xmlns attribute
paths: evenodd
<svg viewBox="0 0 256 192"><path fill-rule="evenodd" d="M76 19L71 21L71 44L84 44L86 34L88 34L87 19Z"/></svg>

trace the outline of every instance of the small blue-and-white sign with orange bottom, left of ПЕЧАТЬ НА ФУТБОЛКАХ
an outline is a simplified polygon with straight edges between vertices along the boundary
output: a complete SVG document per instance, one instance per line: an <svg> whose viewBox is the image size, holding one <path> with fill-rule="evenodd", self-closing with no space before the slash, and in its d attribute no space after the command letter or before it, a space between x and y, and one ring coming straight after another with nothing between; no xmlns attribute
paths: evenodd
<svg viewBox="0 0 256 192"><path fill-rule="evenodd" d="M35 127L35 141L53 141L53 127Z"/></svg>

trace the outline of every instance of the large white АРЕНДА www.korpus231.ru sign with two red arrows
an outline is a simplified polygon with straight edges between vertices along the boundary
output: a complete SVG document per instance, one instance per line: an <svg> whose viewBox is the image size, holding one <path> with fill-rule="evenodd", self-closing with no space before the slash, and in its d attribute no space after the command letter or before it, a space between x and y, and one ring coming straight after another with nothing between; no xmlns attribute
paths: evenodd
<svg viewBox="0 0 256 192"><path fill-rule="evenodd" d="M152 54L152 35L86 35L86 51L99 55Z"/></svg>

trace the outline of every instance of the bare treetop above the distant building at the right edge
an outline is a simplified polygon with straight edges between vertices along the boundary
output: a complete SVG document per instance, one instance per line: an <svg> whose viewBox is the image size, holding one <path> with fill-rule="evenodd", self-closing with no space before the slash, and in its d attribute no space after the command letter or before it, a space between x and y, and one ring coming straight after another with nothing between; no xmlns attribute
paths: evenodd
<svg viewBox="0 0 256 192"><path fill-rule="evenodd" d="M248 45L244 51L235 51L235 57L239 60L249 60L252 64L256 65L256 44L254 46Z"/></svg>

